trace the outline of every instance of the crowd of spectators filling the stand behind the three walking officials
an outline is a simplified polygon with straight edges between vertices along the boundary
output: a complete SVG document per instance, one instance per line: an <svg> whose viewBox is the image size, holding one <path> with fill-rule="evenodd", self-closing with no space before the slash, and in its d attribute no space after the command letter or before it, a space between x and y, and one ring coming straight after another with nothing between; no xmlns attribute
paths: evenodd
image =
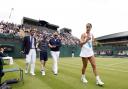
<svg viewBox="0 0 128 89"><path fill-rule="evenodd" d="M14 23L8 23L8 22L0 22L0 33L8 35L13 34L14 36L19 36L20 38L23 38L24 36L27 36L31 28L35 28L35 26L32 25L17 25ZM50 40L52 37L52 33L55 31L52 29L49 29L47 27L41 27L36 26L38 29L38 35L37 39L41 38L41 35L47 36L47 41ZM59 38L62 41L63 45L79 45L79 39L74 37L71 33L63 32L59 34ZM39 40L37 40L39 41Z"/></svg>

